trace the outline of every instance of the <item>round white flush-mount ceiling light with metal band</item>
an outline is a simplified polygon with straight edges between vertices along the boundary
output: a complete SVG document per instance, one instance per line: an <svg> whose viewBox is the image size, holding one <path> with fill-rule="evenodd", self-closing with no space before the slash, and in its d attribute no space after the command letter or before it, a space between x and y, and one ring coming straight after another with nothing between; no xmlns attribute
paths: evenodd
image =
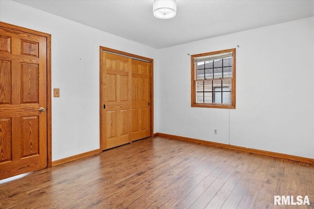
<svg viewBox="0 0 314 209"><path fill-rule="evenodd" d="M177 14L177 2L175 0L154 0L153 13L160 19L173 18Z"/></svg>

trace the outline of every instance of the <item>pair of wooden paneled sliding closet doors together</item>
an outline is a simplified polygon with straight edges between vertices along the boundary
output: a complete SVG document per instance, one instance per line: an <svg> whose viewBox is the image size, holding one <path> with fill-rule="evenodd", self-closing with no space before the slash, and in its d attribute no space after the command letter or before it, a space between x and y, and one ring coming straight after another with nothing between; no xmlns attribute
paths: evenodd
<svg viewBox="0 0 314 209"><path fill-rule="evenodd" d="M102 150L151 136L151 62L101 50Z"/></svg>

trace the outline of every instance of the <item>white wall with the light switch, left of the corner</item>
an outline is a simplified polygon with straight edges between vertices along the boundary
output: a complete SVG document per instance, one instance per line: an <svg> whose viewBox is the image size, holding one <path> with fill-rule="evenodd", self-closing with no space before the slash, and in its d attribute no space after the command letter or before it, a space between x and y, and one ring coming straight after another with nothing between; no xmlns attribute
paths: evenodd
<svg viewBox="0 0 314 209"><path fill-rule="evenodd" d="M99 149L99 46L158 63L154 48L14 1L0 1L0 21L52 34L52 161Z"/></svg>

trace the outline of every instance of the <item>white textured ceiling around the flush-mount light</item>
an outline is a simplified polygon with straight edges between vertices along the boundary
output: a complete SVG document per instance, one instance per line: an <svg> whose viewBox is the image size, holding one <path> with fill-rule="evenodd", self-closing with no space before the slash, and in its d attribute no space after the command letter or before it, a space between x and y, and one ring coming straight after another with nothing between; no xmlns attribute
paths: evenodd
<svg viewBox="0 0 314 209"><path fill-rule="evenodd" d="M154 48L314 16L314 0L177 0L157 19L154 0L15 0Z"/></svg>

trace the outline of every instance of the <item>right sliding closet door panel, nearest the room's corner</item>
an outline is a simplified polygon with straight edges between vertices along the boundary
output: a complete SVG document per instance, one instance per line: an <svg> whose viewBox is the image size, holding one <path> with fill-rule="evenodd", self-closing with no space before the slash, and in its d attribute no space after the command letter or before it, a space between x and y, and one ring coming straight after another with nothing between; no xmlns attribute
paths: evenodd
<svg viewBox="0 0 314 209"><path fill-rule="evenodd" d="M151 63L132 60L132 141L151 135L150 70Z"/></svg>

